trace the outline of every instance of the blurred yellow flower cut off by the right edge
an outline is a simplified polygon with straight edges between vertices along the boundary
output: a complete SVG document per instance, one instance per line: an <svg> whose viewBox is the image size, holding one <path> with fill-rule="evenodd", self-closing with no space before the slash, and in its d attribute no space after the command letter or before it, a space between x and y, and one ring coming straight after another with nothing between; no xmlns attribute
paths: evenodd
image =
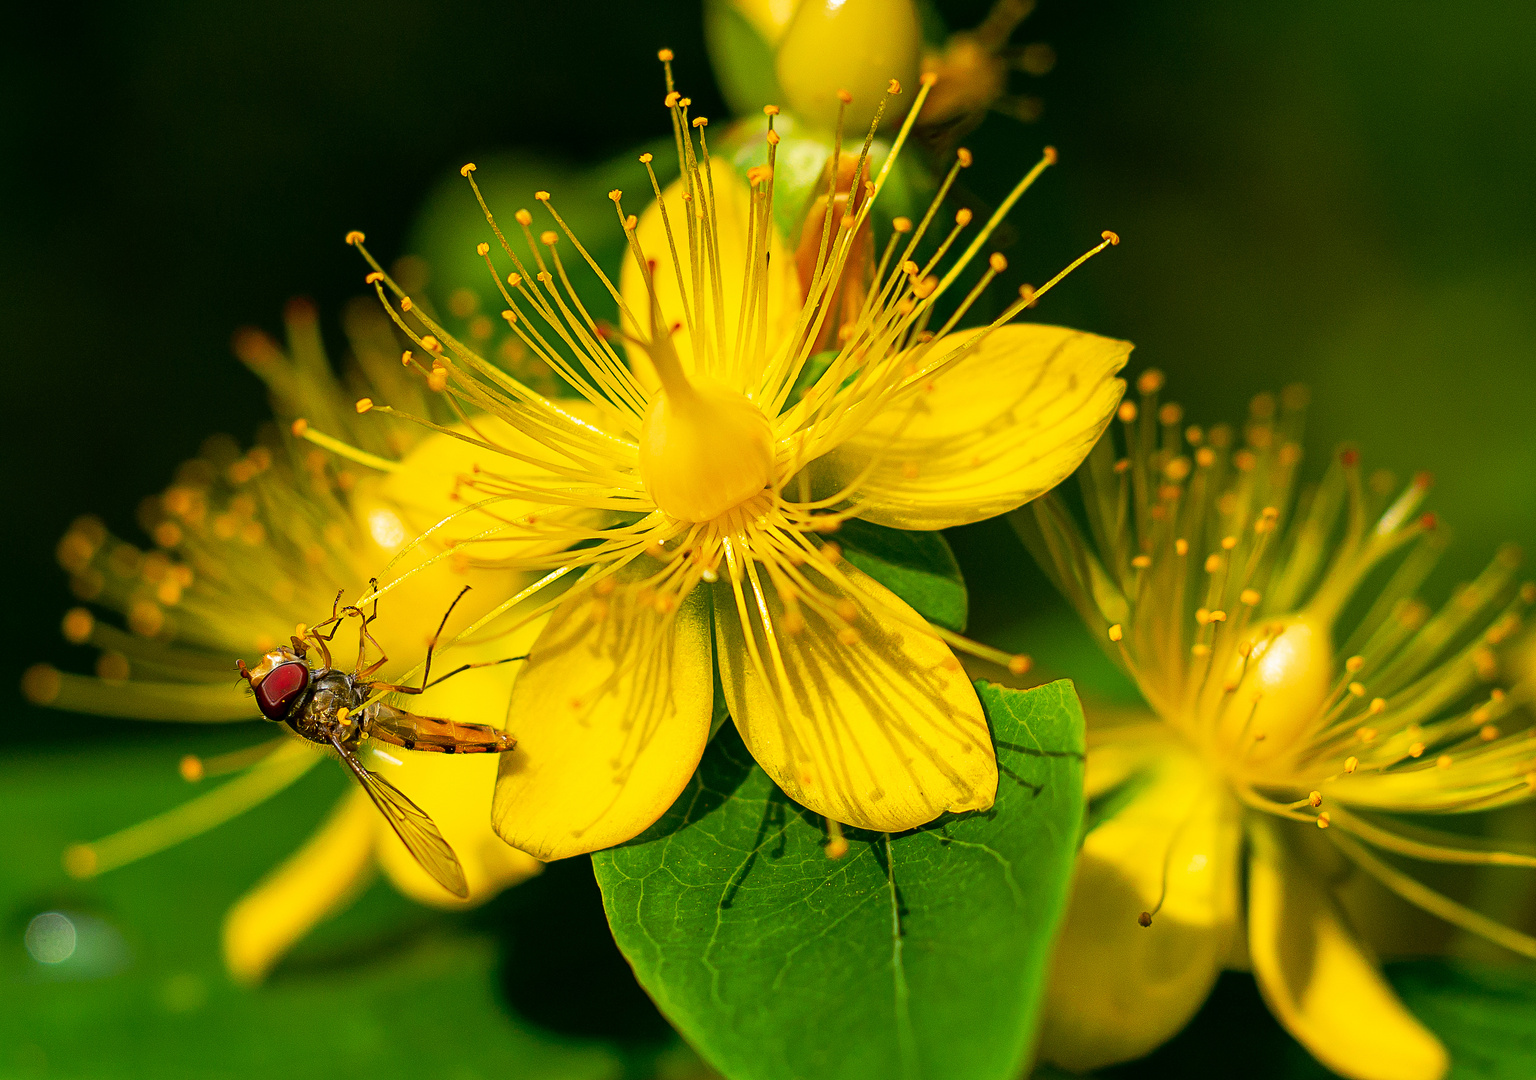
<svg viewBox="0 0 1536 1080"><path fill-rule="evenodd" d="M1084 843L1041 1052L1072 1069L1146 1054L1227 963L1330 1069L1436 1080L1439 1040L1398 1000L1341 906L1352 874L1518 954L1536 939L1432 890L1395 857L1536 866L1536 851L1409 823L1531 797L1530 679L1496 648L1536 588L1498 555L1439 611L1415 593L1442 547L1428 479L1393 496L1346 450L1298 496L1299 387L1233 432L1181 427L1138 379L1083 498L1014 515L1161 724L1091 731ZM1395 567L1387 573L1389 567Z"/></svg>

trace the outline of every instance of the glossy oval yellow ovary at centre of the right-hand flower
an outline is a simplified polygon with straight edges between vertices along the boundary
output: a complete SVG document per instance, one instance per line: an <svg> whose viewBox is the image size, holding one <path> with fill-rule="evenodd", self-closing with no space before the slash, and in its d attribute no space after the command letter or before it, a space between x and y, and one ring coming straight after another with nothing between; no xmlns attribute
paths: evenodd
<svg viewBox="0 0 1536 1080"><path fill-rule="evenodd" d="M1322 724L1332 684L1327 624L1298 615L1249 631L1213 717L1218 753L1240 771L1284 768Z"/></svg>

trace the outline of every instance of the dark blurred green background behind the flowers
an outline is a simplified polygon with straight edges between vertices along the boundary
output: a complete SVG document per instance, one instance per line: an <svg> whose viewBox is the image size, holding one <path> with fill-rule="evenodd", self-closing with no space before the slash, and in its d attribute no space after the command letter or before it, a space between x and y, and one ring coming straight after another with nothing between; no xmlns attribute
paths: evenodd
<svg viewBox="0 0 1536 1080"><path fill-rule="evenodd" d="M955 25L985 6L940 5ZM5 38L3 687L35 659L89 664L57 631L71 601L52 548L69 519L95 510L132 536L134 505L207 433L244 439L264 418L230 332L278 329L303 293L339 338L361 284L347 229L389 258L467 158L530 146L598 161L664 134L660 45L719 114L688 3L32 5ZM1038 283L1100 229L1124 237L1041 318L1132 338L1134 369L1167 369L1193 419L1310 383L1313 459L1356 438L1369 462L1436 472L1435 507L1462 541L1447 581L1502 539L1536 539L1536 8L1044 0L1020 40L1060 55L1021 84L1044 118L988 120L969 180L995 197L1046 141L1061 164L1015 214L1009 258ZM972 630L1043 648L1017 627L1049 602L1017 544L991 525L952 539L972 578L1018 571L978 590ZM184 745L5 693L17 760L86 736L146 739L166 762ZM1212 1009L1207 1032L1263 1015L1236 977ZM1170 1069L1193 1063L1169 1054Z"/></svg>

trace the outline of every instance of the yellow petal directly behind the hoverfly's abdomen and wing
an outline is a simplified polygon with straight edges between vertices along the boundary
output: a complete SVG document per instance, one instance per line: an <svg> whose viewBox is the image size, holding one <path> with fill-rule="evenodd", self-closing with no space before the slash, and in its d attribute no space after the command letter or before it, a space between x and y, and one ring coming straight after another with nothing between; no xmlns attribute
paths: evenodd
<svg viewBox="0 0 1536 1080"><path fill-rule="evenodd" d="M447 673L459 664L495 661L527 653L544 619L487 644L456 647L433 664ZM441 667L438 667L441 664ZM511 685L521 661L473 668L438 684L427 693L402 699L402 705L424 716L445 716L461 724L501 727L507 721ZM362 764L406 793L427 811L464 866L470 894L452 896L406 850L395 830L375 814L379 865L401 893L436 908L470 908L484 903L508 885L539 873L541 863L507 846L490 827L490 797L496 788L496 754L412 753L399 747L370 744Z"/></svg>

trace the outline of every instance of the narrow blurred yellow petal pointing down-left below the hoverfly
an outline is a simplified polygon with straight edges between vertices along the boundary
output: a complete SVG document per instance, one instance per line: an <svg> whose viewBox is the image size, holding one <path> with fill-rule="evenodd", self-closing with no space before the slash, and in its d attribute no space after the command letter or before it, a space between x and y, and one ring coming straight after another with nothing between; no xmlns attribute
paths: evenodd
<svg viewBox="0 0 1536 1080"><path fill-rule="evenodd" d="M362 891L373 863L378 811L347 793L326 823L224 916L224 966L235 982L261 982L298 939Z"/></svg>

